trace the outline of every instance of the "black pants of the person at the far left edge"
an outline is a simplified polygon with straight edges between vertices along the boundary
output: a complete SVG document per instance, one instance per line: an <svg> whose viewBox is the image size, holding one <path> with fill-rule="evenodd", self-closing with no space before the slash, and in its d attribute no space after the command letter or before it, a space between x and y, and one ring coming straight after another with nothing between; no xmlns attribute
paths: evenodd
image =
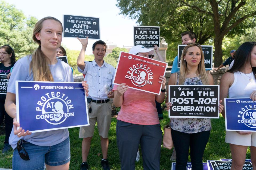
<svg viewBox="0 0 256 170"><path fill-rule="evenodd" d="M9 143L9 137L13 128L13 118L5 111L5 96L0 95L0 126L5 119L5 143Z"/></svg>

